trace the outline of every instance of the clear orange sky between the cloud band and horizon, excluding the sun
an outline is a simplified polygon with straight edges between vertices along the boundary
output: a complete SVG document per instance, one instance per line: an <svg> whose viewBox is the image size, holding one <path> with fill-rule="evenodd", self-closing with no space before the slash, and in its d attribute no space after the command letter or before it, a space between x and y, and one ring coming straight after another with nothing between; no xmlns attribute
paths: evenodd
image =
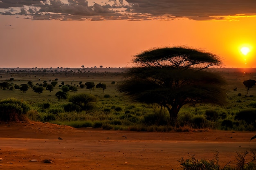
<svg viewBox="0 0 256 170"><path fill-rule="evenodd" d="M224 67L256 67L256 17L60 21L16 16L0 15L1 68L124 67L140 51L182 45L219 55ZM246 56L243 45L251 48Z"/></svg>

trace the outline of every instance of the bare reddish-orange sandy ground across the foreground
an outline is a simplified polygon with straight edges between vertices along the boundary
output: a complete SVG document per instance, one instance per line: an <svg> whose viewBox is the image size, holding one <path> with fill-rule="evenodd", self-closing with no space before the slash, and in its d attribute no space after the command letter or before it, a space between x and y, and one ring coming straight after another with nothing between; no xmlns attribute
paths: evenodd
<svg viewBox="0 0 256 170"><path fill-rule="evenodd" d="M235 160L236 151L256 150L255 139L249 143L254 135L253 132L212 130L106 131L38 122L2 122L0 169L180 170L178 160L182 157L188 159L195 155L197 159L213 159L216 150L220 164L224 165Z"/></svg>

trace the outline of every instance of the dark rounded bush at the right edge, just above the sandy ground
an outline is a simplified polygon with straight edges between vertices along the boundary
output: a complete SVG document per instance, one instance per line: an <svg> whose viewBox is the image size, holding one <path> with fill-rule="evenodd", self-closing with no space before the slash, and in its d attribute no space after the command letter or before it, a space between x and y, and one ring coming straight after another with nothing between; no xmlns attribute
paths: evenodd
<svg viewBox="0 0 256 170"><path fill-rule="evenodd" d="M245 110L241 110L236 114L235 119L244 120L247 124L255 123L256 108L248 108Z"/></svg>

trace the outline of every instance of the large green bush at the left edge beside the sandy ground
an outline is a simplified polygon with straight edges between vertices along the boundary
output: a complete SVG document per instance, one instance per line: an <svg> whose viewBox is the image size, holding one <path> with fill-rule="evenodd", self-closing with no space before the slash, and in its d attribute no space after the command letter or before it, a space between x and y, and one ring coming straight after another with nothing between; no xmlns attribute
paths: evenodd
<svg viewBox="0 0 256 170"><path fill-rule="evenodd" d="M0 100L0 121L18 121L30 110L30 106L15 98Z"/></svg>

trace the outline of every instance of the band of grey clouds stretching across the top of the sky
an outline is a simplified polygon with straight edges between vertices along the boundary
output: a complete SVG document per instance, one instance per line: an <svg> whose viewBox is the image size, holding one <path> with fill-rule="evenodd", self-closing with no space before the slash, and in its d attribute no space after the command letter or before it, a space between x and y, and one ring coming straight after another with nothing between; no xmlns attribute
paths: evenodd
<svg viewBox="0 0 256 170"><path fill-rule="evenodd" d="M230 20L255 9L255 0L0 0L2 15L34 20Z"/></svg>

